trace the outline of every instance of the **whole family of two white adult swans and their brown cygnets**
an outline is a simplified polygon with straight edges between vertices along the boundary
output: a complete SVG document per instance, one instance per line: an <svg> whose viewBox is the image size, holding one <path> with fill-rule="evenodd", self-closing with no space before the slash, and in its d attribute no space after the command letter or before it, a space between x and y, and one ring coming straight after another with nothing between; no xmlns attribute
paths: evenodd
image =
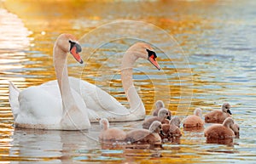
<svg viewBox="0 0 256 164"><path fill-rule="evenodd" d="M119 128L109 128L109 122L129 122L143 120L146 113L142 99L132 81L132 69L137 59L147 59L160 70L154 49L145 42L137 42L128 48L121 62L121 81L130 108L125 108L110 94L90 82L68 76L67 54L83 64L82 51L78 40L71 34L57 37L53 48L53 61L56 80L45 82L20 91L9 82L9 103L16 127L82 130L88 129L91 122L102 127L99 140L126 141L130 143L160 143L161 139L172 140L182 136L180 119L172 118L171 110L163 101L155 103L153 116L143 121L143 128L124 132ZM212 110L205 115L205 122L218 122L205 129L207 139L226 139L239 135L240 127L231 118L230 104L224 103L222 110ZM201 109L195 109L193 116L183 120L183 127L204 127Z"/></svg>

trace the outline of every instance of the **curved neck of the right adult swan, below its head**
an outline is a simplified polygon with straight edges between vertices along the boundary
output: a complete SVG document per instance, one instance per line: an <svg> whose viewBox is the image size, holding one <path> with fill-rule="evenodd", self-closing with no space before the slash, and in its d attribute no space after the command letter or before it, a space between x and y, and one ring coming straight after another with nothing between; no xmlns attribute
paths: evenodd
<svg viewBox="0 0 256 164"><path fill-rule="evenodd" d="M132 51L126 51L121 64L121 80L131 110L145 110L132 80L132 68L138 57Z"/></svg>

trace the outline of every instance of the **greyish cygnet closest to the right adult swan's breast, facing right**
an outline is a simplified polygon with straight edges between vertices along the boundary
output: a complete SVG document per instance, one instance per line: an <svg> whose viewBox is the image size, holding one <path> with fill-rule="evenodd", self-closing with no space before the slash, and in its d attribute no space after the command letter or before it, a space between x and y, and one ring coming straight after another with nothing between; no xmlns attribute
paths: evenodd
<svg viewBox="0 0 256 164"><path fill-rule="evenodd" d="M162 108L159 110L158 116L153 116L143 122L143 128L148 129L152 124L152 122L154 121L169 123L168 121L166 121L167 117L169 117L168 110L166 108Z"/></svg>

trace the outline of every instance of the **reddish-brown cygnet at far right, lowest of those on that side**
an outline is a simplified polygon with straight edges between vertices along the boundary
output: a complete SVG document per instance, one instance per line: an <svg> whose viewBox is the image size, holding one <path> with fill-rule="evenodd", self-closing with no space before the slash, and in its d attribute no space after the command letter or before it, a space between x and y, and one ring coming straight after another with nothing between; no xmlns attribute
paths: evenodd
<svg viewBox="0 0 256 164"><path fill-rule="evenodd" d="M207 139L230 139L235 137L233 131L234 120L231 117L227 117L223 124L213 124L207 127L204 131Z"/></svg>

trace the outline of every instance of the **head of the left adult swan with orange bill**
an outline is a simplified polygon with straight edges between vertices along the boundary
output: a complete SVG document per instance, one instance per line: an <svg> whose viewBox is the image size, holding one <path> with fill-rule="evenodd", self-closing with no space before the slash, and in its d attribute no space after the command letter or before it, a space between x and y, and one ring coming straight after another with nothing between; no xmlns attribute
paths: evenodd
<svg viewBox="0 0 256 164"><path fill-rule="evenodd" d="M66 54L72 54L74 59L76 59L80 64L83 64L83 59L81 59L79 54L82 52L82 48L73 35L61 34L57 38L55 46L59 47Z"/></svg>

